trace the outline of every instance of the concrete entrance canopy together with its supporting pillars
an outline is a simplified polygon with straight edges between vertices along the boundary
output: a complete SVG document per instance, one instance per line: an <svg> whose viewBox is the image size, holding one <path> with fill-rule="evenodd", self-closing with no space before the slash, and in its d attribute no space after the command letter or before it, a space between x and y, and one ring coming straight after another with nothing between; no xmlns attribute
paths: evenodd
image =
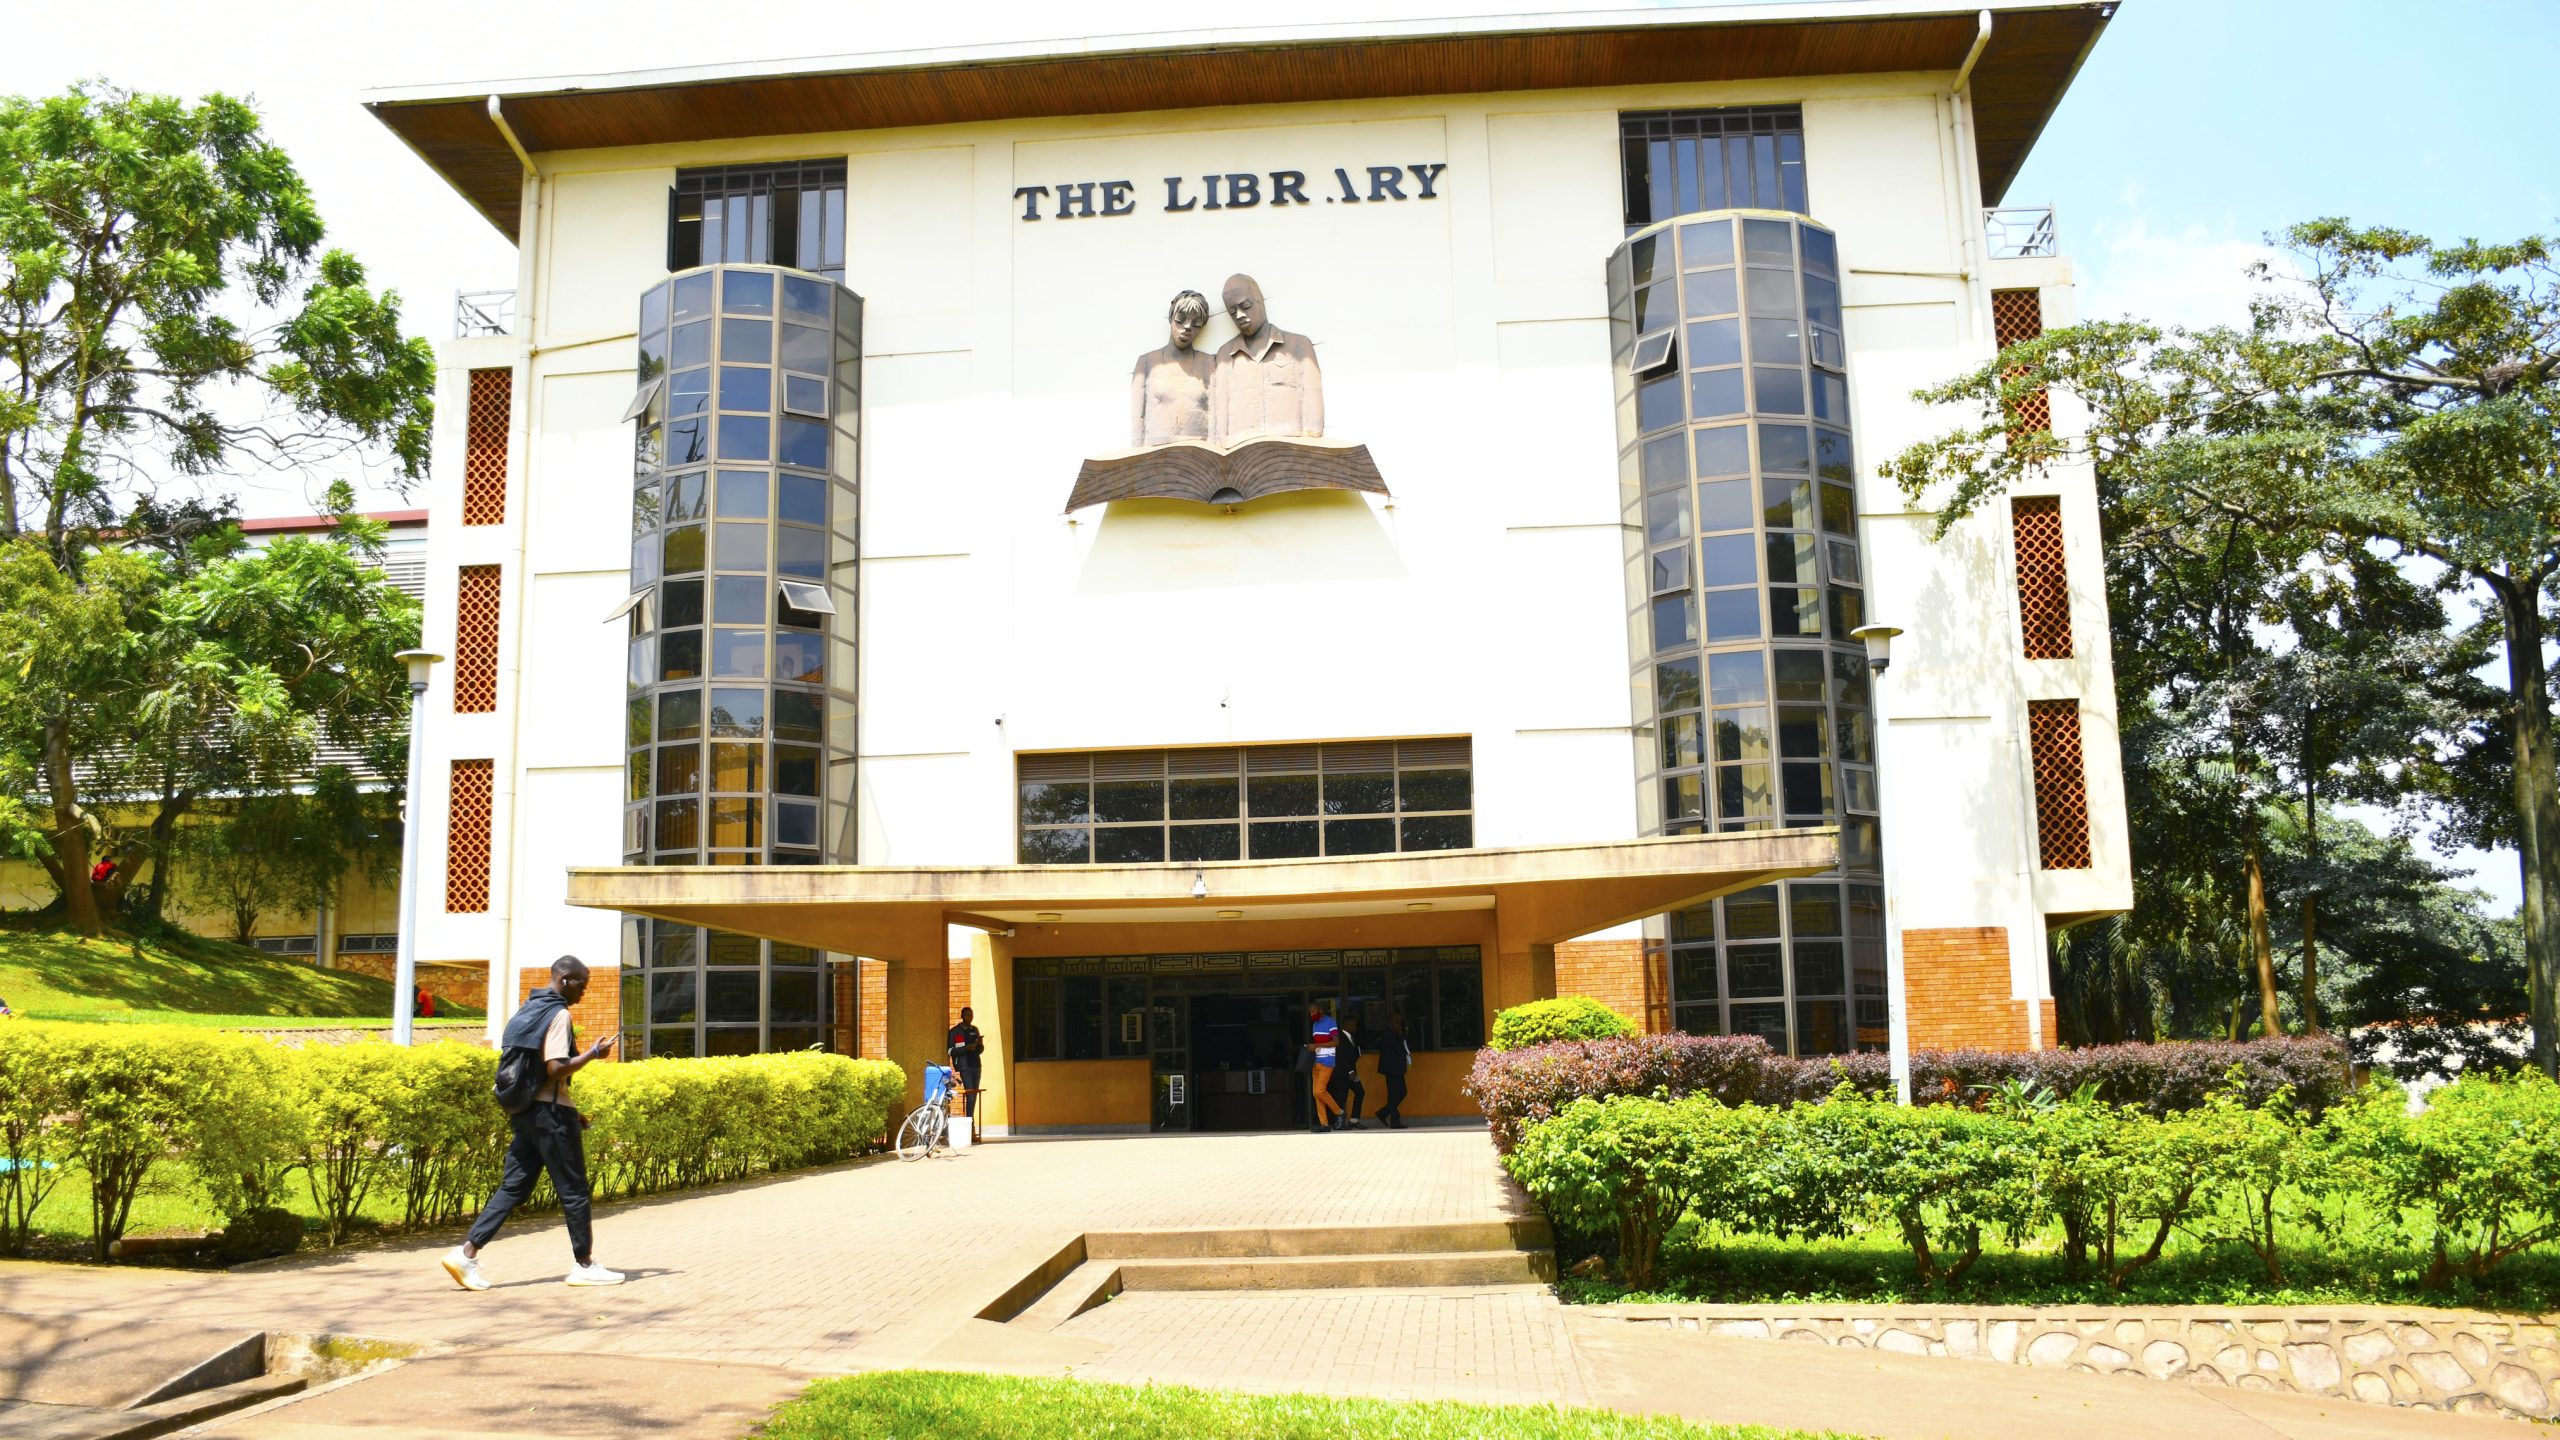
<svg viewBox="0 0 2560 1440"><path fill-rule="evenodd" d="M1016 956L1477 945L1487 1010L1500 1010L1556 994L1562 940L1838 863L1838 830L1810 825L1198 866L594 866L568 871L568 902L886 961L888 1058L906 1068L911 1094L942 1058L947 928L983 930L968 963L970 1004L988 1043L986 1125L1004 1133L1144 1120L1147 1099L1147 1063L1121 1061L1126 1076L1098 1079L1111 1089L1098 1109L1016 1107ZM1418 1094L1449 1089L1454 1102L1457 1071L1434 1079L1418 1063L1416 1074Z"/></svg>

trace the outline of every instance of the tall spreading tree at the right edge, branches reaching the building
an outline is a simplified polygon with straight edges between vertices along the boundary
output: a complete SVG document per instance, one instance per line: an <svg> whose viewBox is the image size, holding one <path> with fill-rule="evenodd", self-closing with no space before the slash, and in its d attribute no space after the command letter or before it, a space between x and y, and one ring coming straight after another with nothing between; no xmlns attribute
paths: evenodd
<svg viewBox="0 0 2560 1440"><path fill-rule="evenodd" d="M2276 986L2258 902L2263 843L2253 835L2266 802L2281 792L2268 784L2281 776L2276 761L2291 758L2294 779L2312 779L2312 805L2301 815L2317 825L2322 776L2360 764L2345 751L2324 751L2335 730L2319 728L2317 694L2371 700L2373 687L2386 682L2401 700L2412 694L2409 674L2383 674L2388 664L2373 669L2396 641L2332 646L2327 659L2353 661L2355 674L2327 671L2314 684L2314 656L2289 656L2304 635L2317 641L2317 625L2296 628L2304 615L2286 612L2286 589L2301 589L2319 566L2373 579L2373 561L2414 561L2404 579L2473 587L2499 615L2509 687L2501 725L2488 735L2470 728L2470 738L2476 746L2504 746L2509 761L2499 776L2509 789L2509 828L2496 838L2516 843L2527 871L2534 1061L2552 1068L2560 1061L2552 1017L2560 787L2542 641L2560 571L2560 446L2552 430L2560 287L2547 243L2432 246L2340 220L2299 225L2291 241L2307 279L2296 290L2271 287L2245 325L2184 333L2099 323L2012 346L1992 364L1923 392L1925 400L1964 405L1974 418L1907 448L1884 471L1912 497L1938 505L1943 530L2051 464L2086 459L2097 466L2109 523L2109 600L2135 610L2138 643L2125 646L2122 625L2117 635L2127 717L2176 712L2186 684L2220 692L2235 781L2222 812L2250 835L2243 871L2268 1025ZM2404 274L2412 269L2417 274ZM2045 387L2086 407L2086 433L2058 438L2051 428L2025 430L2012 420L2020 400ZM2117 551L2135 564L2117 566ZM2240 556L2243 564L2225 564L2222 556ZM2186 597L2199 582L2235 584L2235 602L2212 612L2245 618L2245 630L2189 620L2189 635L2179 635L2176 625L2145 620L2143 612L2163 597L2173 602L2163 610L2168 618L2181 605L2194 610ZM2373 615L2401 623L2409 607ZM2442 656L2460 653L2460 643L2442 633L2435 643ZM2225 661L2220 674L2179 664L2181 651L2199 646ZM2127 651L2132 664L2125 664ZM2401 700L2391 705L2401 707ZM2312 712L2309 728L2299 720L2304 710ZM2409 733L2401 723L2386 728ZM2417 723L2417 730L2427 730L2437 751L2465 735L2445 715ZM2373 743L2373 735L2358 743ZM2465 766L2460 753L2429 753L2429 746L2371 761L2409 784L2427 774L2478 779L2478 764ZM2196 774L2212 774L2202 756L2191 764Z"/></svg>

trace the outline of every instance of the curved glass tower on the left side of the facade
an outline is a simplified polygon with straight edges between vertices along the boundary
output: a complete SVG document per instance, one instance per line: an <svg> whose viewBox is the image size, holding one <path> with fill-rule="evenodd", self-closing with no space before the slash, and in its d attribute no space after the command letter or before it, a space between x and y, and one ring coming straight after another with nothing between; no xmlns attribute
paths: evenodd
<svg viewBox="0 0 2560 1440"><path fill-rule="evenodd" d="M640 297L622 863L855 858L863 300L776 266ZM824 1043L827 956L625 917L630 1056Z"/></svg>

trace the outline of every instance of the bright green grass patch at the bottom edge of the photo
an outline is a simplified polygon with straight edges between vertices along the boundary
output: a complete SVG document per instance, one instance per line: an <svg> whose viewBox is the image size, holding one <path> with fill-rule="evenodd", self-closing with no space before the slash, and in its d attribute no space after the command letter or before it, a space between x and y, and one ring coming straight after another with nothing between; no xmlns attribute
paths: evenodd
<svg viewBox="0 0 2560 1440"><path fill-rule="evenodd" d="M819 1381L768 1440L1812 1440L1805 1430L1531 1404L1390 1404L1316 1394L1096 1386L937 1371Z"/></svg>

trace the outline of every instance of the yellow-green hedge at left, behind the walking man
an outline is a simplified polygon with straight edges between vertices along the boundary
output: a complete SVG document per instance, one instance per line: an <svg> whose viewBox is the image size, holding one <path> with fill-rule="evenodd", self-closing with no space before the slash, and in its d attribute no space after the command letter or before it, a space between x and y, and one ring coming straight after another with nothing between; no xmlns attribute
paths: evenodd
<svg viewBox="0 0 2560 1440"><path fill-rule="evenodd" d="M507 1150L494 1079L497 1056L458 1040L294 1051L174 1025L0 1022L0 1250L26 1253L36 1207L77 1171L105 1258L169 1163L230 1222L302 1184L333 1245L384 1191L407 1225L461 1220ZM819 1053L589 1066L573 1084L596 1199L858 1156L904 1094L888 1061Z"/></svg>

